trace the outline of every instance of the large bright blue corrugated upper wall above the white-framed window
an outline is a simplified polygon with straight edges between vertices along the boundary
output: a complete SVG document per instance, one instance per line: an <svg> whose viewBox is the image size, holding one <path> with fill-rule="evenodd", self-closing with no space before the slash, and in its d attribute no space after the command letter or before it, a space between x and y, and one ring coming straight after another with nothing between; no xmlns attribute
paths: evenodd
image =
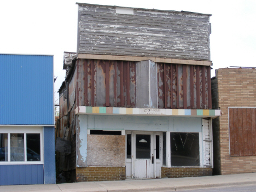
<svg viewBox="0 0 256 192"><path fill-rule="evenodd" d="M0 54L0 124L53 125L53 56Z"/></svg>

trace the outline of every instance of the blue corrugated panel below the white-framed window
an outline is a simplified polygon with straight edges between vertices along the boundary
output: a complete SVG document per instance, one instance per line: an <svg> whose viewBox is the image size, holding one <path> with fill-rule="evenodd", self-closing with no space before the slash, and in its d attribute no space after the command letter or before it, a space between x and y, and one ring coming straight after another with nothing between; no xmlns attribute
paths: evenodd
<svg viewBox="0 0 256 192"><path fill-rule="evenodd" d="M43 165L0 165L0 185L44 184Z"/></svg>

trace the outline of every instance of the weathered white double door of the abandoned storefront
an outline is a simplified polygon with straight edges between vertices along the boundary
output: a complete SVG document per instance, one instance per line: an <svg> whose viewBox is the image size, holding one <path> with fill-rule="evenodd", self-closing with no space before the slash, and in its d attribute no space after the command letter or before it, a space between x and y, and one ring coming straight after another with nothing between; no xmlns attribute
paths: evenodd
<svg viewBox="0 0 256 192"><path fill-rule="evenodd" d="M129 167L131 167L132 178L161 177L161 138L161 132L131 132L131 165Z"/></svg>

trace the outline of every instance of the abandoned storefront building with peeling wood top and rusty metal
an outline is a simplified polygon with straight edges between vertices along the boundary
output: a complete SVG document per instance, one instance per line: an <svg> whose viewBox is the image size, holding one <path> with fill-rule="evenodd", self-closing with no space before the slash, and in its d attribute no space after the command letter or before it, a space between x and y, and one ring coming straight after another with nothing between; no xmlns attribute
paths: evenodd
<svg viewBox="0 0 256 192"><path fill-rule="evenodd" d="M78 3L57 131L73 181L212 174L210 16Z"/></svg>

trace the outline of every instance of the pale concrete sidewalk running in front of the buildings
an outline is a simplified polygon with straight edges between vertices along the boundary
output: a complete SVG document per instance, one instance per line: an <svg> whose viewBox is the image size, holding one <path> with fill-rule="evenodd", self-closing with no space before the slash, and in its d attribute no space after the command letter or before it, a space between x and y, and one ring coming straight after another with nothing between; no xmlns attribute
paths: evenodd
<svg viewBox="0 0 256 192"><path fill-rule="evenodd" d="M123 191L175 191L228 185L255 184L256 173L228 174L223 176L141 179L125 181L63 183L46 185L2 185L1 192L48 191L48 192L123 192Z"/></svg>

